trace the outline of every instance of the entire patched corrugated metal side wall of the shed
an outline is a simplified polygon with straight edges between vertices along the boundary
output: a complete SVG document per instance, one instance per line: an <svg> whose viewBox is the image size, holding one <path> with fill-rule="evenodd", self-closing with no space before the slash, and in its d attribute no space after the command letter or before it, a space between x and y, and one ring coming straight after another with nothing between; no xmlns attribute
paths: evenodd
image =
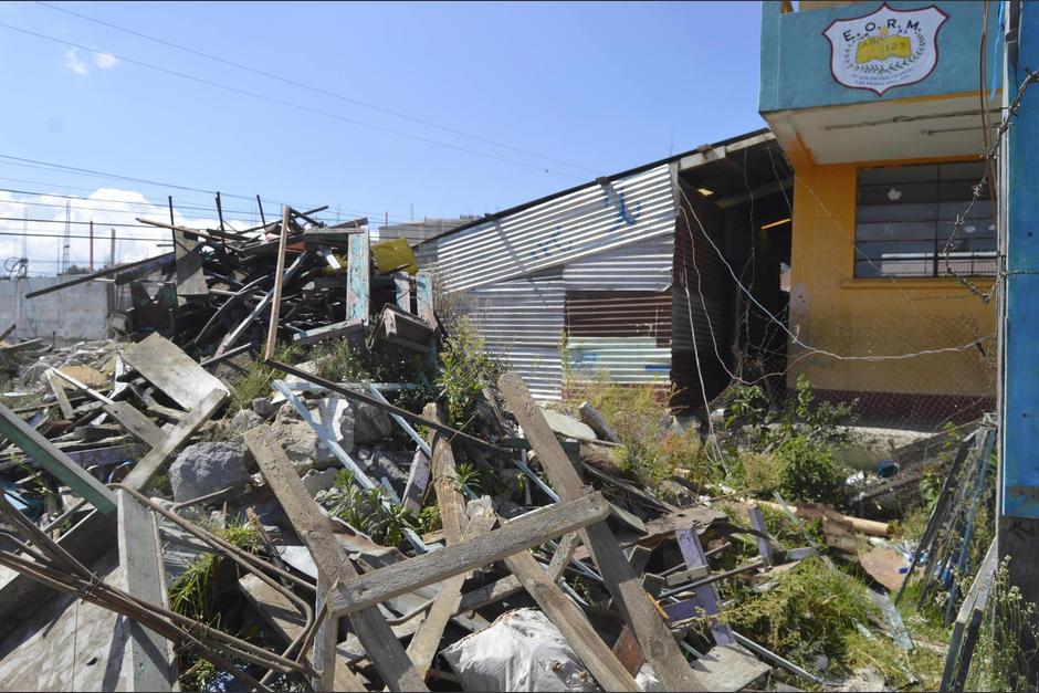
<svg viewBox="0 0 1039 693"><path fill-rule="evenodd" d="M571 375L667 384L674 197L668 165L591 183L420 246L487 348L542 400Z"/></svg>

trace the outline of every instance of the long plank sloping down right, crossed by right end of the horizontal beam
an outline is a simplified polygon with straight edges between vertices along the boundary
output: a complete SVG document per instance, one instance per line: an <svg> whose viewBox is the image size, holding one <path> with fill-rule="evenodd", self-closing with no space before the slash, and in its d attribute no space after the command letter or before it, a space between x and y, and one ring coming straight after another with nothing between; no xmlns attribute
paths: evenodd
<svg viewBox="0 0 1039 693"><path fill-rule="evenodd" d="M524 435L537 451L542 468L559 495L573 498L583 493L580 475L559 447L559 441L523 379L514 372L506 372L498 379L498 388L523 427ZM631 565L625 559L610 528L605 523L591 525L584 531L581 539L589 548L621 615L634 631L646 660L657 673L661 685L671 691L702 691L696 674L690 669L671 631L642 589Z"/></svg>

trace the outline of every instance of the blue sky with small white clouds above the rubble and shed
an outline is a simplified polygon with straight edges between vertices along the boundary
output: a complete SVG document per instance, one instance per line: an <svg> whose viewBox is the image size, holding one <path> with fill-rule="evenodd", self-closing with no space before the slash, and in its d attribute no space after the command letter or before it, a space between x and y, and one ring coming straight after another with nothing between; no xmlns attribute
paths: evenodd
<svg viewBox="0 0 1039 693"><path fill-rule="evenodd" d="M386 212L391 222L412 210L417 218L482 214L763 126L757 2L54 4L345 98L39 3L3 3L0 23L51 39L0 27L0 155L260 193L271 200L267 216L277 213L274 200L327 203L326 218L338 209L379 224ZM207 192L25 164L0 158L0 188L24 191L0 192L0 217L21 219L28 209L63 221L67 198L39 192L91 196L72 201L72 218L97 225L155 217L160 210L147 200L167 195L179 220L216 217ZM229 197L224 207L229 218L255 218L249 200ZM0 220L0 230L22 227ZM61 233L63 225L29 229ZM117 233L122 259L156 252L128 240L150 231ZM0 237L0 254L19 254L20 244ZM35 271L53 273L60 245L33 239ZM106 258L105 249L95 252ZM85 240L74 241L72 255L85 259Z"/></svg>

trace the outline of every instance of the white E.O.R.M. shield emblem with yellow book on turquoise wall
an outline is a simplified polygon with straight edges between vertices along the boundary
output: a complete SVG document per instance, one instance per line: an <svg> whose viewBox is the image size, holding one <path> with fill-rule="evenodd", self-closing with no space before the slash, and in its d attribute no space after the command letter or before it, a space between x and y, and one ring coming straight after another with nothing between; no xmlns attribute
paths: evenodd
<svg viewBox="0 0 1039 693"><path fill-rule="evenodd" d="M822 35L830 42L830 72L850 88L878 96L915 84L938 62L938 29L948 14L935 6L895 10L882 4L870 14L839 19Z"/></svg>

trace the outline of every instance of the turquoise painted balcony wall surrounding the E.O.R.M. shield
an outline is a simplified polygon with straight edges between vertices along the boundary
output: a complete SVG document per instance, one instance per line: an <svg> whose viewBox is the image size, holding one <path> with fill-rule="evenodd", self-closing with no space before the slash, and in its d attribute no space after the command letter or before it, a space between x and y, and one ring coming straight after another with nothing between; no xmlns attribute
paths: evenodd
<svg viewBox="0 0 1039 693"><path fill-rule="evenodd" d="M758 111L768 113L977 91L983 9L979 0L888 2L889 7L896 10L937 6L949 15L938 31L938 63L934 72L922 82L891 88L883 96L839 84L830 73L830 42L822 32L833 20L861 17L882 4L857 2L850 7L783 14L778 1L763 2ZM985 88L991 84L991 74L1001 74L1001 55L993 55L994 42L1001 33L998 25L999 4L995 0L989 2L986 46L989 75Z"/></svg>

